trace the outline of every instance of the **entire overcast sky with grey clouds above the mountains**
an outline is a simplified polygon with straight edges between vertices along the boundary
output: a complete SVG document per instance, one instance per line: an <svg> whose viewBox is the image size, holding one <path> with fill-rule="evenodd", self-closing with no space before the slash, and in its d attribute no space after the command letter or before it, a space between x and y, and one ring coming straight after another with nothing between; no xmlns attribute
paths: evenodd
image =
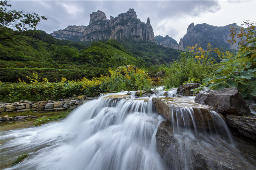
<svg viewBox="0 0 256 170"><path fill-rule="evenodd" d="M150 24L156 35L169 35L178 43L188 25L207 23L213 26L226 26L243 20L255 21L256 1L9 1L12 9L48 18L41 21L38 29L52 33L69 25L87 26L90 14L98 10L109 19L133 8L141 21Z"/></svg>

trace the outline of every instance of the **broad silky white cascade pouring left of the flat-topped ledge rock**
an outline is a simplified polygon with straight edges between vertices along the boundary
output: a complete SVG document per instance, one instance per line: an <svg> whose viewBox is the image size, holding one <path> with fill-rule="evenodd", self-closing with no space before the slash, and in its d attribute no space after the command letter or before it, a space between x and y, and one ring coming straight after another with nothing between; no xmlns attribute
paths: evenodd
<svg viewBox="0 0 256 170"><path fill-rule="evenodd" d="M27 152L28 158L7 169L172 168L156 149L156 131L165 118L151 97L135 99L134 94L122 100L106 99L111 94L104 94L76 108L63 121L1 131L1 165ZM225 133L232 140L229 131Z"/></svg>

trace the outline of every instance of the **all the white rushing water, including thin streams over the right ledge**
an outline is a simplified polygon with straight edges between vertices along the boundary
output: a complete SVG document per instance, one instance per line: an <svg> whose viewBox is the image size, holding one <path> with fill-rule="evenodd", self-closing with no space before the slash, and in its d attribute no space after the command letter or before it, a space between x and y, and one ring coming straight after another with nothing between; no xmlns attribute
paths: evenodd
<svg viewBox="0 0 256 170"><path fill-rule="evenodd" d="M175 160L170 166L156 148L157 128L166 119L152 102L152 97L165 97L166 91L136 99L135 92L131 99L108 98L126 93L103 94L60 122L1 131L1 165L27 152L27 159L7 169L189 169L195 161L190 157L191 145L200 144L202 148L198 150L202 152L203 148L215 146L225 151L225 146L232 143L227 125L218 113L209 111L212 119L207 122L211 124L208 127L204 122L198 124L192 108L173 109L170 123L178 143L170 146ZM175 89L167 92L168 97L175 94ZM211 162L206 164L213 167Z"/></svg>

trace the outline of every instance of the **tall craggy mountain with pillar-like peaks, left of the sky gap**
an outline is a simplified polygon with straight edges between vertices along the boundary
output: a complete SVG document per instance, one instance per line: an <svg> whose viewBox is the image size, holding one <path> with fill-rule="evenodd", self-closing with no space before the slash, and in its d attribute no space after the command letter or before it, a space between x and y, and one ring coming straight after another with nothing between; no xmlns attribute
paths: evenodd
<svg viewBox="0 0 256 170"><path fill-rule="evenodd" d="M102 11L92 12L88 26L68 26L64 30L51 33L54 38L60 40L98 41L150 41L156 42L153 28L148 18L147 22L141 22L136 12L130 9L117 17L110 16L107 19Z"/></svg>

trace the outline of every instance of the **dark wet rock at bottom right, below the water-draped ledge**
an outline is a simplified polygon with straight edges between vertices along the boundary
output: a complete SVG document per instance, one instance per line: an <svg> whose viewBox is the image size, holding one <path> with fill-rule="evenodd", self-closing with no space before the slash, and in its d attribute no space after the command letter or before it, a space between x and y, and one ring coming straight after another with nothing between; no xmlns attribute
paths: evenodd
<svg viewBox="0 0 256 170"><path fill-rule="evenodd" d="M186 135L173 135L169 121L160 123L156 132L157 152L172 169L255 169L238 150L221 139L212 137L195 139ZM209 137L210 138L210 137Z"/></svg>

